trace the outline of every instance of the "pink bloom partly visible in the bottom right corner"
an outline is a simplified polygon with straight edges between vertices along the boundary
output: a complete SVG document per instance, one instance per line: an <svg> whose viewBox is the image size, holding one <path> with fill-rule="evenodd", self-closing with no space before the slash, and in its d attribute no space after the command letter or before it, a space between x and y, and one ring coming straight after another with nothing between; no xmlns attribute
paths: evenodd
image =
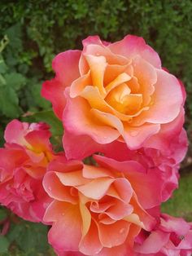
<svg viewBox="0 0 192 256"><path fill-rule="evenodd" d="M159 225L152 232L142 231L136 238L135 256L190 256L192 226L182 218L161 214Z"/></svg>

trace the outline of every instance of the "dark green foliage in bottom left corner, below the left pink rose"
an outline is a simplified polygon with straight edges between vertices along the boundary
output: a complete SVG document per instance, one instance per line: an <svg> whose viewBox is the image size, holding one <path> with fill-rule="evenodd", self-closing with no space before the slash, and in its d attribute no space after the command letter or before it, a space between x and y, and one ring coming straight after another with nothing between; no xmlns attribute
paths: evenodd
<svg viewBox="0 0 192 256"><path fill-rule="evenodd" d="M0 218L3 209L0 208ZM0 236L0 255L33 256L54 255L47 241L48 227L40 223L28 223L13 214L8 216L12 220L6 236Z"/></svg>

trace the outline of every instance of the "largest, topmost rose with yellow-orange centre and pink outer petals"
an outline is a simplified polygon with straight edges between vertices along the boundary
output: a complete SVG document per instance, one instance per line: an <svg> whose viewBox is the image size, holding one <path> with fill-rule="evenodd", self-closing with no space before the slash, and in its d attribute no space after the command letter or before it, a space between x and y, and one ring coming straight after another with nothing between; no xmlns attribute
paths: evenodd
<svg viewBox="0 0 192 256"><path fill-rule="evenodd" d="M95 143L116 139L130 149L147 145L149 139L158 147L161 130L169 126L172 130L177 117L183 125L185 90L142 38L129 35L108 43L94 36L86 38L83 46L82 51L55 57L56 77L42 88L42 95L63 119L68 158L81 158L74 146L78 141L85 145L83 157L95 152Z"/></svg>

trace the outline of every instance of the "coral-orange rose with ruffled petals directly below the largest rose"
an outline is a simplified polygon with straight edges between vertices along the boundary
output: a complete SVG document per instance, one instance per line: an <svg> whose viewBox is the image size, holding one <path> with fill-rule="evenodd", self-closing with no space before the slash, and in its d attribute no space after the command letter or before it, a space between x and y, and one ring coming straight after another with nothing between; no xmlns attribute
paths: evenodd
<svg viewBox="0 0 192 256"><path fill-rule="evenodd" d="M58 255L132 255L134 238L155 227L163 180L137 161L94 156L97 166L60 157L50 162L43 186L52 202L45 222ZM70 253L71 252L71 253Z"/></svg>

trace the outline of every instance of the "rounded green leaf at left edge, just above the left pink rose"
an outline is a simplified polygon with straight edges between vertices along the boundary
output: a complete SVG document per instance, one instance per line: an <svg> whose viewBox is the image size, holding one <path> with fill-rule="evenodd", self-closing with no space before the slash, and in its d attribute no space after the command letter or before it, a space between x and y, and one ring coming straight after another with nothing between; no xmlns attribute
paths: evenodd
<svg viewBox="0 0 192 256"><path fill-rule="evenodd" d="M19 99L11 87L0 87L0 112L11 118L20 116Z"/></svg>

